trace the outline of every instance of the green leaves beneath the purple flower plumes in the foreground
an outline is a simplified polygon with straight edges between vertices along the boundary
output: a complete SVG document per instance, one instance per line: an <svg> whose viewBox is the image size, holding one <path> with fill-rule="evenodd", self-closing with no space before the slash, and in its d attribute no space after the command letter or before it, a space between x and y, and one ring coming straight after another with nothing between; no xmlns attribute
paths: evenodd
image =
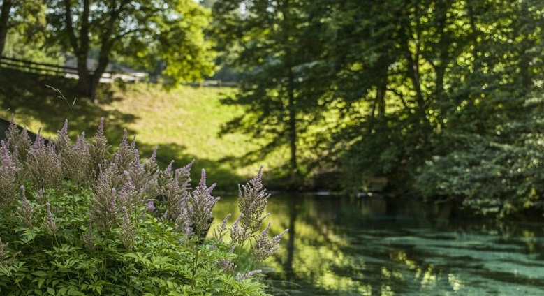
<svg viewBox="0 0 544 296"><path fill-rule="evenodd" d="M98 133L101 135L101 131ZM68 138L64 140L64 147L71 145ZM82 142L80 144L84 145ZM128 142L125 144L128 145ZM134 156L138 155L134 145L124 148L125 151L133 151ZM4 155L9 156L8 151L4 150ZM56 152L51 148L49 153ZM61 154L56 155L61 157ZM2 239L10 239L0 244L2 293L55 296L261 294L263 286L252 285L253 280L236 281L232 275L223 276L225 271L217 262L235 256L226 244L188 236L173 221L159 221L155 216L146 214L146 200L150 197L146 195L147 191L137 191L132 179L128 177L128 171L133 167L141 168L135 165L136 162L140 163L138 157L123 162L125 165L122 173L126 177L126 184L123 179L117 178L117 173L103 175L105 170L117 168L116 161L126 160L116 155L108 161L97 161L101 170L98 181L103 182L101 187L93 184L85 187L84 182L68 179L62 179L61 184L53 188L36 183L40 186L38 191L34 190L31 182L22 186L24 198L14 198L14 206L31 207L32 210L25 212L25 215L31 215L30 218L39 223L25 223L22 214L15 216L13 211L0 212L0 236ZM0 165L6 163L0 162ZM172 173L171 170L166 171ZM94 169L85 170L85 173L96 177L94 172ZM139 172L141 178L147 178L140 180L142 182L139 184L157 182L154 174ZM189 178L189 168L186 175ZM115 182L109 184L111 180ZM179 180L184 182L184 178ZM116 184L119 188L115 187ZM112 223L97 227L98 216L93 215L91 208L96 205L95 191L99 189L111 193L108 202L101 204L104 211L110 211L118 203L123 205L125 212L122 218L131 225L133 235L131 248L124 244L122 236L126 234L126 228L117 223L117 212L110 211ZM199 190L200 194L211 191L205 186L199 187ZM137 198L131 199L133 196ZM180 210L186 211L183 208ZM211 208L195 207L193 210L212 214ZM5 219L6 216L11 219ZM4 223L13 227L6 227ZM47 231L51 223L54 223L54 232ZM239 293L242 290L246 292Z"/></svg>

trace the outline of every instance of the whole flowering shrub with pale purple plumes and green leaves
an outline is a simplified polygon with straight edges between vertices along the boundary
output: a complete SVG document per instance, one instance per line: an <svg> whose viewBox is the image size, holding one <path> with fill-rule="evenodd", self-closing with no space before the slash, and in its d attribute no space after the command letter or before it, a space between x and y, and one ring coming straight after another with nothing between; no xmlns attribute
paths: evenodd
<svg viewBox="0 0 544 296"><path fill-rule="evenodd" d="M0 142L1 295L265 295L260 271L237 266L272 255L286 232L261 230L260 171L239 188L242 214L205 239L219 200L205 170L191 190L192 163L161 170L156 150L140 161L126 131L111 153L103 121L89 141L72 143L66 122L29 143L15 124Z"/></svg>

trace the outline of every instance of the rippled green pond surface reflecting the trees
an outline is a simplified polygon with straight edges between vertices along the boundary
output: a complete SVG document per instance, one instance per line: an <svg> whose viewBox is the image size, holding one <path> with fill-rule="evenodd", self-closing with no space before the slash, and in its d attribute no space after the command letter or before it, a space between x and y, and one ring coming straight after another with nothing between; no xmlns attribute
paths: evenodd
<svg viewBox="0 0 544 296"><path fill-rule="evenodd" d="M379 197L273 196L267 210L272 235L289 228L266 262L276 295L544 295L544 223L450 219L448 204Z"/></svg>

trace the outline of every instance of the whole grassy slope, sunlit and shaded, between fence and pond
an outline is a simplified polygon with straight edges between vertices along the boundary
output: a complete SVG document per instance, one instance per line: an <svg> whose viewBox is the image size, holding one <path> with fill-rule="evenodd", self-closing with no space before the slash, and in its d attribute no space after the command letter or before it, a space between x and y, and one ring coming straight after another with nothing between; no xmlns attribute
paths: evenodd
<svg viewBox="0 0 544 296"><path fill-rule="evenodd" d="M66 100L45 85L59 89ZM72 138L78 131L91 138L104 117L112 145L117 145L126 128L130 138L136 136L142 157L159 146L157 156L163 165L173 159L177 168L194 158L193 179L198 181L200 169L206 168L208 183L217 182L218 191L236 191L236 184L258 170L260 163L241 163L247 151L257 148L250 138L218 136L221 125L241 112L219 102L233 89L181 87L167 92L147 84L102 85L99 103L94 104L77 99L74 87L75 80L0 68L0 116L14 114L17 123L35 132L43 127L45 135L54 135L68 119ZM270 161L263 164L271 168Z"/></svg>

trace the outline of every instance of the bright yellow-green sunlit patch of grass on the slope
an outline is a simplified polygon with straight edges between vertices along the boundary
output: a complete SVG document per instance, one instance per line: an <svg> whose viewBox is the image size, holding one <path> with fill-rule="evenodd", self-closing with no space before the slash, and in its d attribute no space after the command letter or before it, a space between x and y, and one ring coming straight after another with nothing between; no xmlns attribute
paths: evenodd
<svg viewBox="0 0 544 296"><path fill-rule="evenodd" d="M241 112L219 101L232 91L234 89L180 87L166 92L158 87L129 87L119 93L121 99L105 105L104 110L110 114L115 114L113 111L133 114L135 119L128 122L126 128L135 131L139 145L145 145L147 151L158 146L163 163L176 159L182 162L178 165L184 165L183 162L195 158L195 168L209 170L209 179L215 182L218 169L249 176L251 168L236 168L227 160L242 158L247 151L257 149L245 135L219 135L221 125ZM253 165L253 171L257 168L258 165Z"/></svg>

